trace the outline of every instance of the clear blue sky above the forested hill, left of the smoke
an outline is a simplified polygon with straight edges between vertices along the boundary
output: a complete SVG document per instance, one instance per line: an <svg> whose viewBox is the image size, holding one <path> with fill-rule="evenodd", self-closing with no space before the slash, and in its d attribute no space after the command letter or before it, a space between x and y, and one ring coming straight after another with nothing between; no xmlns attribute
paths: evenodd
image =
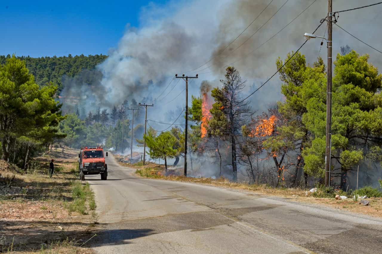
<svg viewBox="0 0 382 254"><path fill-rule="evenodd" d="M2 0L0 55L107 54L126 24L139 27L139 13L149 2L167 0Z"/></svg>

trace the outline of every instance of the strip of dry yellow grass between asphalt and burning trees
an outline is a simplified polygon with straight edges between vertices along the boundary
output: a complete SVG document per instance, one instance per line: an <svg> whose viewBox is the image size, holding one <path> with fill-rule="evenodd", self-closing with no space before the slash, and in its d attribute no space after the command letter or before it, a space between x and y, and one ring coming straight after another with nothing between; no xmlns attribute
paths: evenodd
<svg viewBox="0 0 382 254"><path fill-rule="evenodd" d="M325 206L334 207L336 209L358 212L376 217L382 217L382 182L380 188L372 188L371 186L364 186L358 190L342 191L339 188L325 187L317 184L314 191L311 192L305 188L287 188L287 187L274 187L267 184L254 184L254 183L240 183L232 182L227 178L210 178L210 177L184 177L180 171L167 171L165 172L164 165L154 164L152 162L143 166L141 163L131 164L130 167L136 169L136 175L145 178L156 178L169 181L191 182L199 184L207 184L220 186L224 188L235 188L245 191L253 191L256 195L270 195L282 196L287 199L307 202L312 204L321 204ZM356 194L357 193L357 194ZM347 199L337 200L335 196L346 196ZM367 196L369 201L368 206L359 204L359 199L353 199L354 195Z"/></svg>

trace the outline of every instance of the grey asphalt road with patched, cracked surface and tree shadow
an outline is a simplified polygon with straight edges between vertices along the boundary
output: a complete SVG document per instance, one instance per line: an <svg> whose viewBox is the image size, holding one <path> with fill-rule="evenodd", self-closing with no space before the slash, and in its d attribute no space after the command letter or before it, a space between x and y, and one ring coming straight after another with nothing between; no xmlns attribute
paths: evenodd
<svg viewBox="0 0 382 254"><path fill-rule="evenodd" d="M98 253L382 253L382 220L194 183L138 178L107 159Z"/></svg>

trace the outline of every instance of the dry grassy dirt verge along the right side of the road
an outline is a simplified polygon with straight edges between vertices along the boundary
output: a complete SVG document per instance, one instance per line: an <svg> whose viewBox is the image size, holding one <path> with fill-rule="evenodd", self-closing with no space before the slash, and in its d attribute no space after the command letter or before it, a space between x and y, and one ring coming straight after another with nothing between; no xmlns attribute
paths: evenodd
<svg viewBox="0 0 382 254"><path fill-rule="evenodd" d="M180 182L192 182L199 184L208 184L214 186L220 186L225 188L233 188L240 190L253 191L259 195L269 195L269 196L281 196L291 201L299 201L311 204L320 204L324 206L334 207L338 210L357 212L360 214L366 214L374 217L382 217L382 198L367 198L365 200L369 201L367 206L359 204L360 200L354 201L353 198L337 200L334 198L318 198L309 190L302 190L299 188L274 188L267 185L249 185L246 183L233 183L227 179L219 178L212 179L208 177L184 177L176 172L176 170L167 170L165 172L164 166L154 164L149 162L145 166L141 163L124 165L120 162L122 166L133 167L136 169L136 175L139 177L146 178L159 178L169 181L180 181ZM342 195L338 192L339 195ZM349 197L350 195L348 195ZM353 196L351 196L353 197Z"/></svg>

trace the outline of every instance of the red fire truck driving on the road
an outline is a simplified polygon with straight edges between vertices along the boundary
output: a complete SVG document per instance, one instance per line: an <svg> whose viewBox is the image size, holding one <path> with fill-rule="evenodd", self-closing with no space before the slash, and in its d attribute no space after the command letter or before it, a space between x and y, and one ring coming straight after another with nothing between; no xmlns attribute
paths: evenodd
<svg viewBox="0 0 382 254"><path fill-rule="evenodd" d="M107 157L106 152L106 157ZM102 146L81 147L78 153L78 174L81 181L85 175L101 175L101 180L107 180L107 164L105 163L104 150Z"/></svg>

